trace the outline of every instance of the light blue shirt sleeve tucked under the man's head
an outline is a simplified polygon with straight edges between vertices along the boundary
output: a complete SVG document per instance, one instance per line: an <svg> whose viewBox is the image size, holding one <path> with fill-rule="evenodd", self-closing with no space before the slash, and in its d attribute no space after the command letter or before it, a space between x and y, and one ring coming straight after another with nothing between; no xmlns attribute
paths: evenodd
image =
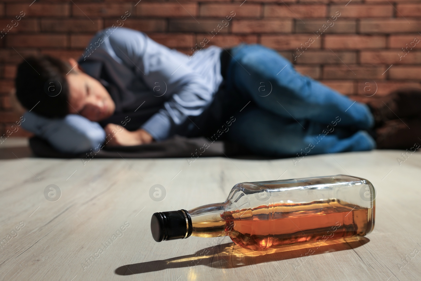
<svg viewBox="0 0 421 281"><path fill-rule="evenodd" d="M84 153L101 145L105 131L99 123L77 114L65 118L45 118L25 112L22 127L46 139L56 150L64 153Z"/></svg>

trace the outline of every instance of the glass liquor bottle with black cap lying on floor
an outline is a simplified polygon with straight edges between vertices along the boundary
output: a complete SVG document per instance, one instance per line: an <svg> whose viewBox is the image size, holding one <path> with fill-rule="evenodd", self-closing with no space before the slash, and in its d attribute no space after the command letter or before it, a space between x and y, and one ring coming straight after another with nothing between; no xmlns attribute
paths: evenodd
<svg viewBox="0 0 421 281"><path fill-rule="evenodd" d="M376 193L366 179L337 175L235 185L223 203L152 215L155 241L229 236L246 249L365 236Z"/></svg>

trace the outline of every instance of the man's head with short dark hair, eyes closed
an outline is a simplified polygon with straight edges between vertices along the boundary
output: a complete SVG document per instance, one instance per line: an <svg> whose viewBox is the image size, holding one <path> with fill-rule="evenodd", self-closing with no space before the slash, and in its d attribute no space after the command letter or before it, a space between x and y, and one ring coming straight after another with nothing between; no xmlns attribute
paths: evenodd
<svg viewBox="0 0 421 281"><path fill-rule="evenodd" d="M15 83L21 104L48 118L74 113L99 121L115 111L104 86L84 73L74 59L63 62L47 55L29 57L19 64Z"/></svg>

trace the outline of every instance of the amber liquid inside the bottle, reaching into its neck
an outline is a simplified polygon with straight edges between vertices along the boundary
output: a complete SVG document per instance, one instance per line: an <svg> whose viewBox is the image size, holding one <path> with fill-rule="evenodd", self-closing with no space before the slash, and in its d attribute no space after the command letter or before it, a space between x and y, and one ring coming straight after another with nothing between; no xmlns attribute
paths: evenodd
<svg viewBox="0 0 421 281"><path fill-rule="evenodd" d="M192 236L228 235L238 246L261 251L288 244L364 236L373 228L372 211L374 208L337 199L258 206L224 211L220 222L193 222ZM272 219L267 219L267 214Z"/></svg>

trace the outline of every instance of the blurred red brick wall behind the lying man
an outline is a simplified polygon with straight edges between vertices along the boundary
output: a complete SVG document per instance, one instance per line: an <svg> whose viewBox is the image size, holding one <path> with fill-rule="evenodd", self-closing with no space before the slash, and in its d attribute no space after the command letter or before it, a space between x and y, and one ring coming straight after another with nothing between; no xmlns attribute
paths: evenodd
<svg viewBox="0 0 421 281"><path fill-rule="evenodd" d="M421 40L421 0L348 1L2 0L0 31L18 25L0 36L0 133L19 120L9 94L21 56L78 58L97 30L116 24L126 11L124 27L188 54L204 37L210 40L206 46L244 41L274 48L298 71L352 98L421 87L421 42L414 41ZM21 11L21 20L12 22ZM231 11L235 16L229 25L219 26L211 38L208 32ZM335 14L340 16L332 18Z"/></svg>

